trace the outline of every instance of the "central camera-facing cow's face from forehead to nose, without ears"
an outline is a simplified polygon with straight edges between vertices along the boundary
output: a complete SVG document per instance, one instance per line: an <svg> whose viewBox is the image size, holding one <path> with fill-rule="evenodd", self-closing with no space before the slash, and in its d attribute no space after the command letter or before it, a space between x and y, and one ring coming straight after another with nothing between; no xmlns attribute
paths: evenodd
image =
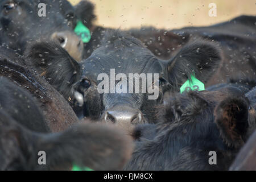
<svg viewBox="0 0 256 182"><path fill-rule="evenodd" d="M78 91L84 94L87 114L121 125L152 122L152 106L162 103L167 86L163 65L143 47L109 46L82 63Z"/></svg>

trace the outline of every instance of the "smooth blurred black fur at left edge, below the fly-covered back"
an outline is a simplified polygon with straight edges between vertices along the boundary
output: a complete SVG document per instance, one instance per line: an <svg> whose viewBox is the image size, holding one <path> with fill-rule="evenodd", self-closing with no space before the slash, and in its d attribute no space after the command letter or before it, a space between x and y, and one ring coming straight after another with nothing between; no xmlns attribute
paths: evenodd
<svg viewBox="0 0 256 182"><path fill-rule="evenodd" d="M44 133L49 131L38 104L26 90L5 77L0 77L0 85L0 110L27 129Z"/></svg>

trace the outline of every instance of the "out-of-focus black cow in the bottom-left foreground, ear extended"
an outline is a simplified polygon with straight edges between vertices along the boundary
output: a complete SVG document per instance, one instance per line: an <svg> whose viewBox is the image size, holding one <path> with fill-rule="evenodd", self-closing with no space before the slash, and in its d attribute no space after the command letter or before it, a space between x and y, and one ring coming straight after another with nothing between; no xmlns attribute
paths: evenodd
<svg viewBox="0 0 256 182"><path fill-rule="evenodd" d="M74 164L116 170L123 167L133 149L120 130L102 124L80 123L61 133L42 134L26 129L0 110L0 126L1 171L71 170ZM38 163L40 151L46 154L46 165Z"/></svg>

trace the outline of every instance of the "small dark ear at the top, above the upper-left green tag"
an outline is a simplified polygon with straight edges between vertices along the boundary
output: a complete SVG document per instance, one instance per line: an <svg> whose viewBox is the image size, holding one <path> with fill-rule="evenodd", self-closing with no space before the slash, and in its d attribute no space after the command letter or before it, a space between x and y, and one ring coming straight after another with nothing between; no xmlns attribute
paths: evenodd
<svg viewBox="0 0 256 182"><path fill-rule="evenodd" d="M75 11L78 18L81 19L82 23L90 30L93 26L93 21L96 19L93 3L82 0L75 6Z"/></svg>

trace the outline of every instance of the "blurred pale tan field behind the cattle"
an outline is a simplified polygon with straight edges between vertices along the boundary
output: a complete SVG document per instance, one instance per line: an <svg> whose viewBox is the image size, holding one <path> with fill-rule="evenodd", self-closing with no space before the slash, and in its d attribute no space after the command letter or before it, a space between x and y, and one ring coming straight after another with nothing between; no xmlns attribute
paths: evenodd
<svg viewBox="0 0 256 182"><path fill-rule="evenodd" d="M69 0L73 5L80 0ZM92 0L96 24L112 28L154 26L181 28L205 26L241 14L256 15L255 0ZM217 5L217 16L210 17L209 3Z"/></svg>

